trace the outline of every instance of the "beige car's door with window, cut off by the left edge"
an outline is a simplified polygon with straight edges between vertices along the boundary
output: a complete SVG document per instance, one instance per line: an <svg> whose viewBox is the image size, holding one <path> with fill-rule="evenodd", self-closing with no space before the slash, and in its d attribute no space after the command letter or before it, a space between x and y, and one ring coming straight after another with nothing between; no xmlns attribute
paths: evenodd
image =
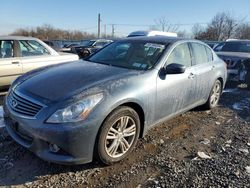
<svg viewBox="0 0 250 188"><path fill-rule="evenodd" d="M22 65L17 57L17 42L0 40L0 89L11 85L21 74Z"/></svg>

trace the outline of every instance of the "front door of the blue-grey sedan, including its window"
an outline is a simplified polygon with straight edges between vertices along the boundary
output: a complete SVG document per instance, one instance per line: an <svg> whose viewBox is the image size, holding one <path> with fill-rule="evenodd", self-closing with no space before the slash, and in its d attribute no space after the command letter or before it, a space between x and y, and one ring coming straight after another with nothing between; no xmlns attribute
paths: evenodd
<svg viewBox="0 0 250 188"><path fill-rule="evenodd" d="M188 43L179 44L173 49L166 65L171 63L185 65L186 71L157 78L156 119L181 112L195 102L195 70L192 67Z"/></svg>

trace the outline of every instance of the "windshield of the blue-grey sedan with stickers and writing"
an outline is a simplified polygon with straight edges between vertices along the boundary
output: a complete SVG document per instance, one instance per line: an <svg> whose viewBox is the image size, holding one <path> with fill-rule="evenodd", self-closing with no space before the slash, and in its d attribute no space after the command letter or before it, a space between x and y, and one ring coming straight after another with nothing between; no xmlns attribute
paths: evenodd
<svg viewBox="0 0 250 188"><path fill-rule="evenodd" d="M166 44L146 41L120 41L108 45L88 60L136 70L152 68L163 54Z"/></svg>

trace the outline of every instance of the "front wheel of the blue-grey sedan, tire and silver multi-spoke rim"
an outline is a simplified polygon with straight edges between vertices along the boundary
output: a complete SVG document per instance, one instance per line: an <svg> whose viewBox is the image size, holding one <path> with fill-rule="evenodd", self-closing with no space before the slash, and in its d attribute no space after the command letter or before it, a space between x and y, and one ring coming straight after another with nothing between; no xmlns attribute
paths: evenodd
<svg viewBox="0 0 250 188"><path fill-rule="evenodd" d="M139 138L140 119L135 110L122 106L112 112L100 129L97 152L104 164L126 158Z"/></svg>

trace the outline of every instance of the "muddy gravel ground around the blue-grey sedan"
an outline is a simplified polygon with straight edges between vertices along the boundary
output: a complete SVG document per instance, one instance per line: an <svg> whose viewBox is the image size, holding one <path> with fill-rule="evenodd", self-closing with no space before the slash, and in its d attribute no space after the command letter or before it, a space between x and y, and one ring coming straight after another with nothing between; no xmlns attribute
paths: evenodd
<svg viewBox="0 0 250 188"><path fill-rule="evenodd" d="M211 111L195 109L153 128L128 159L112 166L50 164L0 128L0 186L250 187L249 133L244 87L226 89Z"/></svg>

